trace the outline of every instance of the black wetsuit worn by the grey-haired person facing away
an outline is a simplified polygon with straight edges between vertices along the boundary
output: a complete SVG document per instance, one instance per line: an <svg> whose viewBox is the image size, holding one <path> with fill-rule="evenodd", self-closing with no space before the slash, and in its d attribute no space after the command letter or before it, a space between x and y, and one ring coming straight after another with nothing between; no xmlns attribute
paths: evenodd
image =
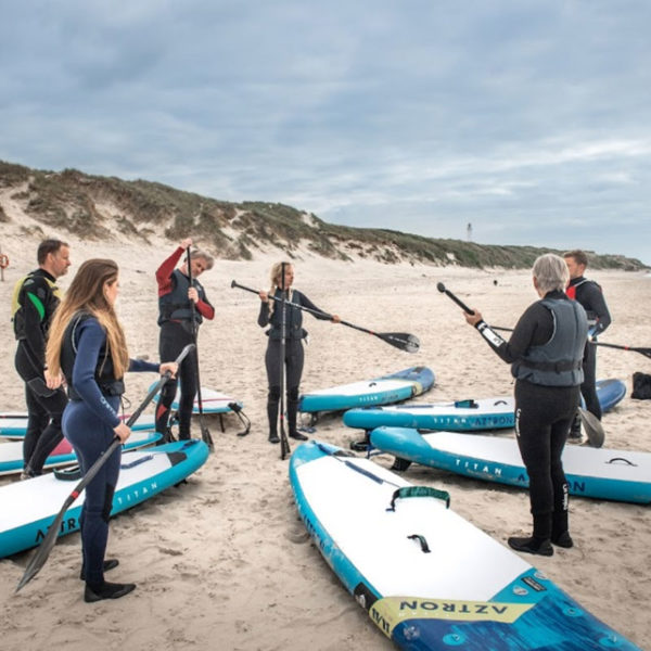
<svg viewBox="0 0 651 651"><path fill-rule="evenodd" d="M545 299L569 302L567 296L559 291L549 292ZM574 359L567 362L572 370L563 370L558 380L553 379L549 368L540 373L534 371L524 379L527 366L523 360L536 347L549 344L554 333L554 318L544 302L534 303L525 310L508 342L484 321L476 326L497 355L513 363L512 371L516 378L515 433L529 476L534 537L539 539L553 539L567 531L567 482L561 455L578 405L583 379L580 355L588 328L584 310L576 307L572 310L577 315L574 339L567 343L567 348L574 346L575 349ZM546 376L549 383L540 384Z"/></svg>

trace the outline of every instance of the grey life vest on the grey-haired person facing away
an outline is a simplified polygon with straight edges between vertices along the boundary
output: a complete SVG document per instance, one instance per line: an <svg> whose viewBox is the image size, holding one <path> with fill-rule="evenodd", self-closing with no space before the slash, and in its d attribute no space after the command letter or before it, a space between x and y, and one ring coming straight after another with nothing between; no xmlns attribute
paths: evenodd
<svg viewBox="0 0 651 651"><path fill-rule="evenodd" d="M577 386L584 380L582 361L588 335L584 308L575 301L542 298L552 315L553 332L546 344L532 346L511 367L518 380L544 386Z"/></svg>

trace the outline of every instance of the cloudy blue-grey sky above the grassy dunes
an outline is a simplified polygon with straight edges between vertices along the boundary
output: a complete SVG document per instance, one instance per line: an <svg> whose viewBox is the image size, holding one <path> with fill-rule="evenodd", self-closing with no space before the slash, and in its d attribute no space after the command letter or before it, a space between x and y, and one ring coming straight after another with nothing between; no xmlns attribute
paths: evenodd
<svg viewBox="0 0 651 651"><path fill-rule="evenodd" d="M0 0L0 158L651 265L649 0Z"/></svg>

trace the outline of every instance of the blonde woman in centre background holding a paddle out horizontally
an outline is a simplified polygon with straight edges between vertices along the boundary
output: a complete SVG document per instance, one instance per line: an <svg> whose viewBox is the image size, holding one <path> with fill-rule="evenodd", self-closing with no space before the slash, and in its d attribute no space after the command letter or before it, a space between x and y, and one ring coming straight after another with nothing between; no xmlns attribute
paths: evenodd
<svg viewBox="0 0 651 651"><path fill-rule="evenodd" d="M284 290L290 304L301 305L312 310L321 311L305 294L292 289L294 282L294 267L290 263L277 263L271 268L271 289L269 292L260 292L260 312L258 326L265 328L271 326L267 331L269 343L265 355L267 367L267 380L269 382L269 394L267 397L267 416L269 418L269 443L279 443L278 437L278 404L281 391L281 327L282 304L272 301L269 296L282 297L283 286L282 270L284 268ZM296 413L298 410L298 385L303 374L303 339L307 332L303 329L303 311L291 305L286 306L285 312L285 390L288 399L288 425L289 435L297 441L306 441L307 436L301 434L296 429ZM315 315L317 319L330 320L339 323L336 315L332 317L323 312L323 316Z"/></svg>

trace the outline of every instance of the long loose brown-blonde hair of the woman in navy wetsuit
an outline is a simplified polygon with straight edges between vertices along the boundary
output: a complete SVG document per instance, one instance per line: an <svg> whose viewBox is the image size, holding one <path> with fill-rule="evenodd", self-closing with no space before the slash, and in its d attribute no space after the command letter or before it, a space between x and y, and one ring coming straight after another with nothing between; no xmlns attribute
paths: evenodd
<svg viewBox="0 0 651 651"><path fill-rule="evenodd" d="M113 306L106 301L104 286L117 282L118 267L114 260L92 258L81 264L73 282L56 307L48 334L46 361L53 374L61 369L61 348L71 320L80 311L95 317L106 332L116 380L129 368L129 352L124 330Z"/></svg>

